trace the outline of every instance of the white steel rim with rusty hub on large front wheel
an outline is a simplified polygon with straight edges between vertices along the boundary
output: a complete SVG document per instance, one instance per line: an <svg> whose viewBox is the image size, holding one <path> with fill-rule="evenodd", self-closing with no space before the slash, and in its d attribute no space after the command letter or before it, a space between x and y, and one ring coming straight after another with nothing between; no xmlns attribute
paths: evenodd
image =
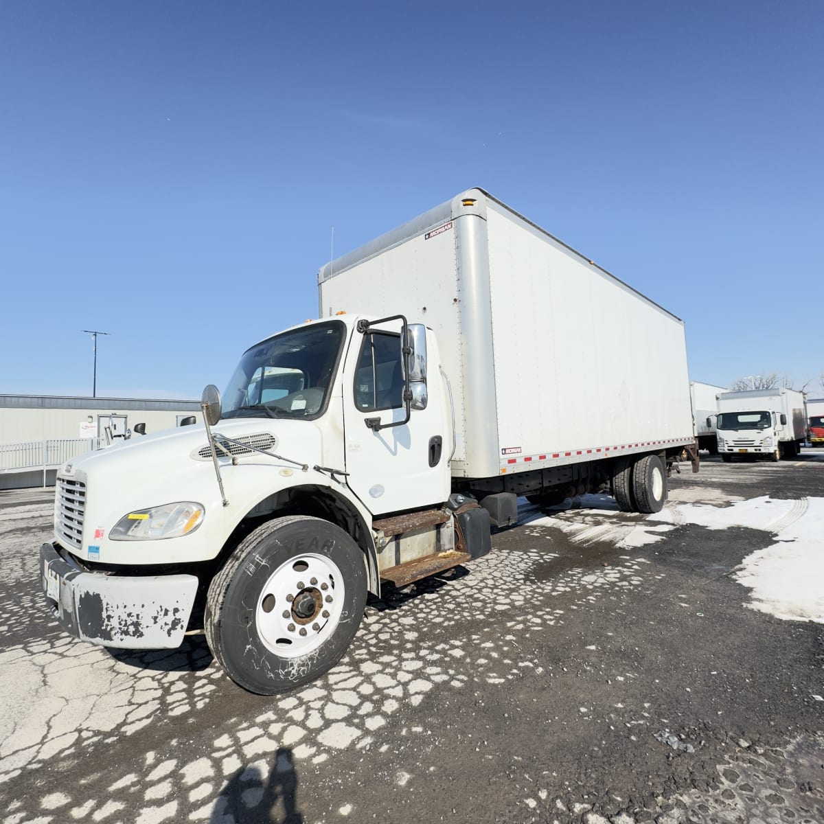
<svg viewBox="0 0 824 824"><path fill-rule="evenodd" d="M344 577L325 555L295 555L269 575L260 591L255 625L281 658L311 653L330 639L344 608Z"/></svg>

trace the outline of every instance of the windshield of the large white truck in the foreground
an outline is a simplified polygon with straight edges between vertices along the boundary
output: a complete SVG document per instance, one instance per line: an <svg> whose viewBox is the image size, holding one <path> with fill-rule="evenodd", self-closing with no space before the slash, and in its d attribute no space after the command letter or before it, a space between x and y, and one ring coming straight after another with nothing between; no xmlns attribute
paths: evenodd
<svg viewBox="0 0 824 824"><path fill-rule="evenodd" d="M222 418L312 418L325 409L346 327L283 332L249 349L223 396Z"/></svg>

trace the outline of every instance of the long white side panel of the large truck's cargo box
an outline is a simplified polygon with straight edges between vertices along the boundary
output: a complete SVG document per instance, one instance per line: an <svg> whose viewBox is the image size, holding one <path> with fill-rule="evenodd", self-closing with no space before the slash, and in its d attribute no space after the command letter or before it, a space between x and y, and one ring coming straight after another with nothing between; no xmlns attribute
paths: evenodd
<svg viewBox="0 0 824 824"><path fill-rule="evenodd" d="M513 213L487 221L502 466L689 441L682 322Z"/></svg>

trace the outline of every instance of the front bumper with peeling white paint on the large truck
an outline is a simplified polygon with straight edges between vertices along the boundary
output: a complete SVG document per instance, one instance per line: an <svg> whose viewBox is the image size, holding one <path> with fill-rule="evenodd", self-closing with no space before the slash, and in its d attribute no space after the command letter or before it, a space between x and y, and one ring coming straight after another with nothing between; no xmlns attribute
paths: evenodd
<svg viewBox="0 0 824 824"><path fill-rule="evenodd" d="M40 547L40 586L68 634L121 649L173 649L194 604L194 575L86 572L54 544Z"/></svg>

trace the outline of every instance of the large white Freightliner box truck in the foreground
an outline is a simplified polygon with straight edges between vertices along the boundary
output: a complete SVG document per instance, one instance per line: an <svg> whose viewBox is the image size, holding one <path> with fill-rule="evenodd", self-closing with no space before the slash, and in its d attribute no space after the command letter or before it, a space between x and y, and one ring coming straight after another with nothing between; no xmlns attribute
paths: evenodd
<svg viewBox="0 0 824 824"><path fill-rule="evenodd" d="M59 471L44 595L69 633L247 690L311 681L367 593L484 555L517 495L658 511L687 450L683 324L481 190L326 265L321 319L253 345L204 426Z"/></svg>

